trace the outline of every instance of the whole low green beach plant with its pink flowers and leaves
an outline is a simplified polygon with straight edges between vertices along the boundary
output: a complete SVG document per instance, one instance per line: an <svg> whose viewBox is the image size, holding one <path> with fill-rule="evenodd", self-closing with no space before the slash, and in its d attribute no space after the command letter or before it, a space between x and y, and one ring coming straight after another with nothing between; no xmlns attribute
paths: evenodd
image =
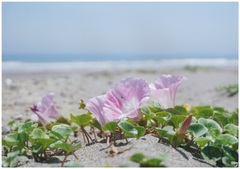
<svg viewBox="0 0 240 169"><path fill-rule="evenodd" d="M75 155L83 144L104 140L111 156L124 153L115 145L119 138L139 139L152 134L159 144L182 147L215 166L238 166L238 110L221 107L175 105L178 86L185 76L161 75L153 83L131 77L116 83L106 94L84 102L85 113L64 118L56 110L49 93L30 109L33 117L9 122L11 132L2 138L2 166L14 167L19 159L42 162L56 155ZM83 143L76 133L81 132ZM90 134L93 133L93 134ZM139 166L163 166L163 156L133 154Z"/></svg>

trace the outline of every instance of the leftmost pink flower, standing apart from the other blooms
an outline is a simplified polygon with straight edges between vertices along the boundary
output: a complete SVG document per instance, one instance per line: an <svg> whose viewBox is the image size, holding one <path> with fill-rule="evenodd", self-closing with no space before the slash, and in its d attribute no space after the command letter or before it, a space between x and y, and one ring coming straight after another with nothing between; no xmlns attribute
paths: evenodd
<svg viewBox="0 0 240 169"><path fill-rule="evenodd" d="M47 126L51 121L59 117L59 112L56 110L53 103L54 93L49 93L42 98L42 101L37 105L33 105L30 109L35 113L42 125Z"/></svg>

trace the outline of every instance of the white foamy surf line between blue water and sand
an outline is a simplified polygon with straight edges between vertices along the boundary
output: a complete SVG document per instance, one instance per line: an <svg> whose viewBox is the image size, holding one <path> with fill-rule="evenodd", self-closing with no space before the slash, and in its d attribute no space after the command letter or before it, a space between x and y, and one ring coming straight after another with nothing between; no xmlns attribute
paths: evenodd
<svg viewBox="0 0 240 169"><path fill-rule="evenodd" d="M3 72L48 72L48 71L113 71L126 69L159 70L184 66L238 66L238 60L217 59L171 59L159 61L81 61L81 62L16 62L3 61Z"/></svg>

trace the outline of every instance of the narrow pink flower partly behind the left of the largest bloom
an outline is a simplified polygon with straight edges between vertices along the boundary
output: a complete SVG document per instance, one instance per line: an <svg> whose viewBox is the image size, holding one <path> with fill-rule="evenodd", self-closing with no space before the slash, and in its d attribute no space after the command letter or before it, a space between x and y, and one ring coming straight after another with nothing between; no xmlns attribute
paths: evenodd
<svg viewBox="0 0 240 169"><path fill-rule="evenodd" d="M86 108L96 117L101 126L108 122L103 113L105 100L106 95L102 95L94 97L86 103Z"/></svg>

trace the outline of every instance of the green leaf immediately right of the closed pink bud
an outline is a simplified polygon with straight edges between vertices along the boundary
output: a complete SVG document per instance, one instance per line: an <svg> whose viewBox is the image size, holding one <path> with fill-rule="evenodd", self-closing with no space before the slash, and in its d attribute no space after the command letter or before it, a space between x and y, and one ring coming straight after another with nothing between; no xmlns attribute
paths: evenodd
<svg viewBox="0 0 240 169"><path fill-rule="evenodd" d="M198 138L208 132L208 129L200 123L192 123L187 131L192 133L195 138Z"/></svg>

